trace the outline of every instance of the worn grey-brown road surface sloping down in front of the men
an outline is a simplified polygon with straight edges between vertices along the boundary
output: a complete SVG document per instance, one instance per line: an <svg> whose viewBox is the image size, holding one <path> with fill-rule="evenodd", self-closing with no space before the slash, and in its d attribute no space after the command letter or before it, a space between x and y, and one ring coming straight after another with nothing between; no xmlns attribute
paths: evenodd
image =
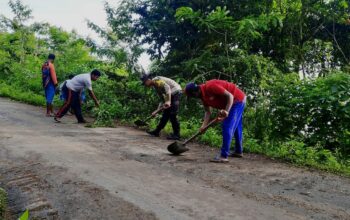
<svg viewBox="0 0 350 220"><path fill-rule="evenodd" d="M350 180L258 155L211 164L214 150L128 127L57 124L0 99L0 186L10 215L38 219L350 219Z"/></svg>

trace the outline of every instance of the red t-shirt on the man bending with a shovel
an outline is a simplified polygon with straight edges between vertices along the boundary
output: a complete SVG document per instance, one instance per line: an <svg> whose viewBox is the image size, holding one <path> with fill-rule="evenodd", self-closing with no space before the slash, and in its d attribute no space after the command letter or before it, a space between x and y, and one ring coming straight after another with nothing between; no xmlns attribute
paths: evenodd
<svg viewBox="0 0 350 220"><path fill-rule="evenodd" d="M202 92L202 102L205 106L217 109L225 109L227 100L224 96L227 90L234 97L234 102L243 102L245 94L235 84L225 80L209 80L205 84L199 86Z"/></svg>

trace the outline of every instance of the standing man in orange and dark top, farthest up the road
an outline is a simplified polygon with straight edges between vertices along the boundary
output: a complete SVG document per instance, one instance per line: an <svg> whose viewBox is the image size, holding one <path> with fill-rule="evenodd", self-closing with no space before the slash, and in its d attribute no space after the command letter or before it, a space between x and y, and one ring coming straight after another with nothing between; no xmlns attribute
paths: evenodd
<svg viewBox="0 0 350 220"><path fill-rule="evenodd" d="M46 116L54 116L52 102L55 96L55 88L58 84L57 76L55 71L55 66L53 65L55 61L55 55L49 54L47 61L41 67L43 87L45 90L46 98Z"/></svg>

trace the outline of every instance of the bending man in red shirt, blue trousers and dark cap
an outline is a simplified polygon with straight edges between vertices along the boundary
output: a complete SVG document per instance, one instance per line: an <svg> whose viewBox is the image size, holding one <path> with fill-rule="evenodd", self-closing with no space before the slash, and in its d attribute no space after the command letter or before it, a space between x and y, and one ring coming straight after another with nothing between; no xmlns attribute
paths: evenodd
<svg viewBox="0 0 350 220"><path fill-rule="evenodd" d="M187 84L185 94L188 97L200 98L205 108L205 116L201 132L210 121L211 108L219 109L219 120L222 123L222 148L220 155L217 155L211 162L228 162L230 146L233 136L235 137L235 152L233 157L243 155L243 111L246 102L246 95L233 83L224 80L210 80L205 84Z"/></svg>

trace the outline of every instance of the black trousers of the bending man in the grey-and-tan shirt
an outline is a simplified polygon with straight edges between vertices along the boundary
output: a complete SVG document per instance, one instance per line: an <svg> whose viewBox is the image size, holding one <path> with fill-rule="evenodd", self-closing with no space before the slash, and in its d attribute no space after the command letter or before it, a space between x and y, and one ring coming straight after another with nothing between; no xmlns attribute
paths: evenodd
<svg viewBox="0 0 350 220"><path fill-rule="evenodd" d="M156 132L160 132L170 120L173 127L174 135L180 136L180 123L177 119L179 113L181 93L171 95L171 106L163 111L162 118L156 128Z"/></svg>

